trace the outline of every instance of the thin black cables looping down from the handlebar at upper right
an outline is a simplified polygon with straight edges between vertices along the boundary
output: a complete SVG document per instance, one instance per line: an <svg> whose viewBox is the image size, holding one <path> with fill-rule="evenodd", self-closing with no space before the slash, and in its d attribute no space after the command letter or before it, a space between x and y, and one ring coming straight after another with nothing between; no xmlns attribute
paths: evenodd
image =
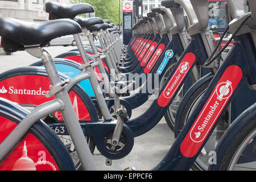
<svg viewBox="0 0 256 182"><path fill-rule="evenodd" d="M214 54L216 53L218 47L220 46L220 44L222 43L222 40L224 39L224 36L226 34L226 32L228 32L229 30L229 26L226 27L223 35L221 36L220 41L218 42L216 48L214 49L212 55L210 55L210 57L207 59L207 61L205 62L205 66L210 65L214 60L216 60L221 53L226 49L226 47L228 47L228 45L230 44L230 42L232 42L233 38L237 35L238 31L240 31L240 29L242 28L243 24L251 17L251 15L249 15L246 19L243 20L243 22L240 24L240 26L237 28L237 30L234 32L234 34L232 35L232 37L229 39L229 41L225 44L225 46L220 50L220 52L217 53L216 56L214 56ZM214 56L214 57L213 57Z"/></svg>

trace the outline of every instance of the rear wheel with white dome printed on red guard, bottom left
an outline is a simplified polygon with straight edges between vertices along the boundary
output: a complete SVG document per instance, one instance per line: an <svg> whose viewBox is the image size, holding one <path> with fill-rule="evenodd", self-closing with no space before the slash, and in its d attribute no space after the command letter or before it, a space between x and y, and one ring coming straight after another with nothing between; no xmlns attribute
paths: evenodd
<svg viewBox="0 0 256 182"><path fill-rule="evenodd" d="M0 98L0 143L26 116L27 110ZM42 121L36 122L1 161L4 171L75 170L59 137Z"/></svg>

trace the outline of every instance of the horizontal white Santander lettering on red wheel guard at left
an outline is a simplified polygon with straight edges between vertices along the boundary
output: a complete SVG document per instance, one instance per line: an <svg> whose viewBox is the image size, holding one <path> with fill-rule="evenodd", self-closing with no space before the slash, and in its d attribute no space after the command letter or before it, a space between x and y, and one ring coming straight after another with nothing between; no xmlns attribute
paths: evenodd
<svg viewBox="0 0 256 182"><path fill-rule="evenodd" d="M0 93L9 93L9 94L21 94L21 95L34 95L34 96L45 96L49 90L42 90L42 88L36 89L36 90L30 90L30 89L19 89L14 88L14 86L10 86L7 89L5 89L5 86L2 86L0 89Z"/></svg>

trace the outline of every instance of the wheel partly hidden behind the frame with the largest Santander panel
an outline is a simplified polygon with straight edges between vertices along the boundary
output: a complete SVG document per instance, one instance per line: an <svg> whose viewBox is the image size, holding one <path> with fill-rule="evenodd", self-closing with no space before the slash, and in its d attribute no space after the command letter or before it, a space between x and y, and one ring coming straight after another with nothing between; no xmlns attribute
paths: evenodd
<svg viewBox="0 0 256 182"><path fill-rule="evenodd" d="M176 119L179 122L176 121L175 123L177 125L175 126L176 127L175 136L177 136L180 133L180 131L183 129L189 116L195 110L195 107L201 100L201 97L203 97L205 90L208 88L208 85L210 84L210 81L211 79L208 78L203 82L203 84L200 84L200 86L197 86L197 88L193 92L188 92L189 96L188 94L185 95L184 100L182 101L182 104L179 110L177 111ZM205 171L208 169L209 159L212 156L210 154L212 151L214 151L214 148L218 143L218 140L220 140L221 136L224 134L228 126L229 126L228 112L226 111L221 121L216 126L216 129L213 131L213 133L210 135L210 138L207 140L207 143L205 143L205 146L203 150L201 150L201 153L197 157L195 163L191 167L193 170Z"/></svg>

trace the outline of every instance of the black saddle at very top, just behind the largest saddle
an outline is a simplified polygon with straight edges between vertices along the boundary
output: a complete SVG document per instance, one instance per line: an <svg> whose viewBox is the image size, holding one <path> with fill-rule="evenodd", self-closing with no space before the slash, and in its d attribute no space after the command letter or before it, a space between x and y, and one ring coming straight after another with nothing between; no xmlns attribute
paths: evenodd
<svg viewBox="0 0 256 182"><path fill-rule="evenodd" d="M44 4L44 11L49 13L51 20L61 18L75 18L76 15L84 13L93 13L94 8L88 3L79 3L75 5L62 5L57 2L47 2Z"/></svg>

